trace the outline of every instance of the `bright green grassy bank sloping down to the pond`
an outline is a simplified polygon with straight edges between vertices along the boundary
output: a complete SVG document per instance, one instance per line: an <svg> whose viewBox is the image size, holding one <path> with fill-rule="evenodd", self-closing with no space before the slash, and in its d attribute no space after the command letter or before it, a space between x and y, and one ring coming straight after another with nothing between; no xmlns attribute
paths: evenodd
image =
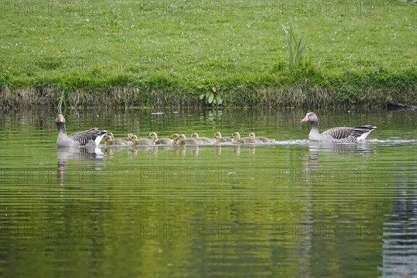
<svg viewBox="0 0 417 278"><path fill-rule="evenodd" d="M1 2L0 103L416 103L416 8L398 1ZM283 26L306 44L288 67Z"/></svg>

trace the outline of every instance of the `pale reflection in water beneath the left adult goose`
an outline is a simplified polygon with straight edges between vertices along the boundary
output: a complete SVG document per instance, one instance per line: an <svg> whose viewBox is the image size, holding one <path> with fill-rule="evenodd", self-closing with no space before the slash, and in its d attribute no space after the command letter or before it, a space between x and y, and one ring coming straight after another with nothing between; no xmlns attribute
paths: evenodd
<svg viewBox="0 0 417 278"><path fill-rule="evenodd" d="M58 169L56 173L60 186L65 184L65 172L68 160L97 161L105 158L104 153L101 152L99 147L58 147L56 149L56 156L58 158ZM70 175L68 175L69 177Z"/></svg>

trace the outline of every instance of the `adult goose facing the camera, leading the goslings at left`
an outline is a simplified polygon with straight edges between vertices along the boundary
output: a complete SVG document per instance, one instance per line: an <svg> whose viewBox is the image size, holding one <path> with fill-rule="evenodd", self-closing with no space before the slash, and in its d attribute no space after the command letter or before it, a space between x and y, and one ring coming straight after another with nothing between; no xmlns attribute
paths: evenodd
<svg viewBox="0 0 417 278"><path fill-rule="evenodd" d="M58 138L56 139L58 147L95 147L100 144L101 139L107 134L107 131L99 131L95 127L67 135L64 116L58 114L55 122L58 127Z"/></svg>

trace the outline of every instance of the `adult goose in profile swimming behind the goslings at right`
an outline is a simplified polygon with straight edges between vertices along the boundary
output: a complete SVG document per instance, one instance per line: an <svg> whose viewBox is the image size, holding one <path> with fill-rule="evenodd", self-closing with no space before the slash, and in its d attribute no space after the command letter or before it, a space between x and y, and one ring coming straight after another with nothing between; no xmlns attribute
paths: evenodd
<svg viewBox="0 0 417 278"><path fill-rule="evenodd" d="M311 122L309 140L322 142L363 142L371 131L377 128L371 124L357 127L334 127L320 133L318 118L313 112L306 114L301 122Z"/></svg>

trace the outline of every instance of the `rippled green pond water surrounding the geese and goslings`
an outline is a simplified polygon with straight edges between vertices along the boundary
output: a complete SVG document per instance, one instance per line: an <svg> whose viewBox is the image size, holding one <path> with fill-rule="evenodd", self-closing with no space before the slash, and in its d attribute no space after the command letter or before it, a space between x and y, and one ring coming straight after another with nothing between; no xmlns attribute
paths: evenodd
<svg viewBox="0 0 417 278"><path fill-rule="evenodd" d="M54 111L1 112L1 277L415 277L416 111L315 111L377 126L359 145L309 142L306 112L66 111L68 133L277 140L83 152Z"/></svg>

